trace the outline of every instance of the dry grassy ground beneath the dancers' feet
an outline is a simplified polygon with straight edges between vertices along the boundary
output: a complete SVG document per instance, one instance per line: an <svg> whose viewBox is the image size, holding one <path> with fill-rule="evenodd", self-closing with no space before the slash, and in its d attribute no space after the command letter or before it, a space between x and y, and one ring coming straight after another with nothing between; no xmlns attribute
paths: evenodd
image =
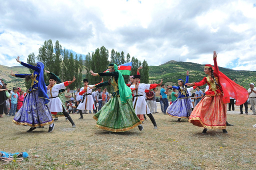
<svg viewBox="0 0 256 170"><path fill-rule="evenodd" d="M233 112L236 115L227 115L234 124L227 127L228 134L208 130L206 135L186 119L176 122L160 113L153 115L157 130L148 118L142 132L134 128L123 133L96 128L90 114L83 120L71 115L76 128L61 117L50 134L48 127L26 133L28 127L17 126L11 123L13 117L4 116L0 118L0 150L27 152L30 158L0 169L256 169L256 129L251 126L256 116L237 115L237 111L238 107Z"/></svg>

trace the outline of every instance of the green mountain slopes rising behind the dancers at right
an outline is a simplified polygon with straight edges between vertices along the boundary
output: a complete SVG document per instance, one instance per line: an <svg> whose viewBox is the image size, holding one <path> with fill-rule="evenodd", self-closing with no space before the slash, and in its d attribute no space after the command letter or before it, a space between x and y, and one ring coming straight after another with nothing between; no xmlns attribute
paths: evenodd
<svg viewBox="0 0 256 170"><path fill-rule="evenodd" d="M219 71L224 73L231 80L244 88L249 88L249 83L256 82L256 71L232 70L228 68L218 67ZM186 79L186 70L189 71L189 82L199 82L204 76L204 65L182 62L182 61L168 61L159 66L149 66L148 75L150 83L158 83L160 79L163 80L165 85L177 86L177 80ZM206 85L202 86L204 88Z"/></svg>

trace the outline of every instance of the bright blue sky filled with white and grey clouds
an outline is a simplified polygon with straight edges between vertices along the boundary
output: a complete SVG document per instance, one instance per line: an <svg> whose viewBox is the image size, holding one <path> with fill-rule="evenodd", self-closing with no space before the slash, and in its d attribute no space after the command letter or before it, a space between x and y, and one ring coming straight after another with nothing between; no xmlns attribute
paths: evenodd
<svg viewBox="0 0 256 170"><path fill-rule="evenodd" d="M0 64L45 40L86 55L104 46L148 65L170 60L256 71L256 0L0 0Z"/></svg>

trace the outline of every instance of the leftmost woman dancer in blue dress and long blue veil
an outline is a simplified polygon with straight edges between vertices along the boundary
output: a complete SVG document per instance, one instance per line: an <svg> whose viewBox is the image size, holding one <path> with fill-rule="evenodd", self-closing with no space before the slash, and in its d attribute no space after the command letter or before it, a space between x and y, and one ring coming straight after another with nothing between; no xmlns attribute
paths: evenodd
<svg viewBox="0 0 256 170"><path fill-rule="evenodd" d="M54 129L54 124L50 111L46 106L49 103L49 97L43 80L44 65L42 62L37 62L35 66L23 63L19 61L19 56L16 61L34 71L32 74L13 74L12 71L10 73L14 77L25 78L26 81L32 79L31 87L24 98L23 105L12 122L16 125L30 126L31 128L27 132L35 130L36 127L49 125L48 133L51 133Z"/></svg>

